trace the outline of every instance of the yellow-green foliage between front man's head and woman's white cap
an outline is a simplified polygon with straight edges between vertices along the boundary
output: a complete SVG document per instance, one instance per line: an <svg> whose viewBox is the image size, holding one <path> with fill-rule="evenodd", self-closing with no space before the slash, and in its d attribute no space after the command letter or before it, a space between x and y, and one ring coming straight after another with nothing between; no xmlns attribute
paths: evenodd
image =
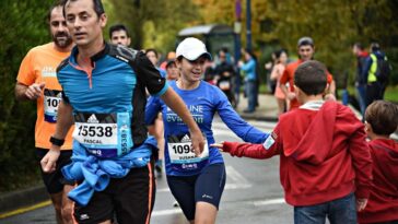
<svg viewBox="0 0 398 224"><path fill-rule="evenodd" d="M114 11L108 25L126 24L132 47L155 48L162 52L174 50L179 30L200 21L197 8L185 0L108 0Z"/></svg>

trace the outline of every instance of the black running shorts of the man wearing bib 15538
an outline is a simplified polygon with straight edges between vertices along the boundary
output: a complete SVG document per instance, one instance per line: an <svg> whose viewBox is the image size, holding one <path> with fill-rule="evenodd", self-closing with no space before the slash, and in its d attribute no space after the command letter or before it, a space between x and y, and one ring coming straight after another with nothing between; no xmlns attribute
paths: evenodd
<svg viewBox="0 0 398 224"><path fill-rule="evenodd" d="M104 191L95 191L86 207L75 203L78 223L114 220L119 224L147 224L155 201L153 160L148 166L131 168L124 178L112 178ZM114 215L115 214L115 215Z"/></svg>

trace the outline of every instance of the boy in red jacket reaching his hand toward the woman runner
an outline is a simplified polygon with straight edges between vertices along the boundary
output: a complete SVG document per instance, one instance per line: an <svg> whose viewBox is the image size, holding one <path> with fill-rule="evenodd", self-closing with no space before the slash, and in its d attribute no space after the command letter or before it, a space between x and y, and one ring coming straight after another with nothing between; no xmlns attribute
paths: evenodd
<svg viewBox="0 0 398 224"><path fill-rule="evenodd" d="M294 85L303 105L282 115L262 144L214 146L238 157L280 155L280 180L286 202L294 207L295 224L325 223L326 217L356 224L355 209L366 205L372 181L364 126L350 108L323 101L327 75L320 62L302 63Z"/></svg>

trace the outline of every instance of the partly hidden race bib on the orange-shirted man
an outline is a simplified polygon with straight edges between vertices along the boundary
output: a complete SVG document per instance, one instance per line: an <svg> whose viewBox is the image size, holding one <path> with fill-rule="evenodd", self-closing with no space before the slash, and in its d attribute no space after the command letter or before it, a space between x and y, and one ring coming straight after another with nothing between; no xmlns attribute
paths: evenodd
<svg viewBox="0 0 398 224"><path fill-rule="evenodd" d="M44 90L44 120L57 122L57 111L61 102L61 91Z"/></svg>

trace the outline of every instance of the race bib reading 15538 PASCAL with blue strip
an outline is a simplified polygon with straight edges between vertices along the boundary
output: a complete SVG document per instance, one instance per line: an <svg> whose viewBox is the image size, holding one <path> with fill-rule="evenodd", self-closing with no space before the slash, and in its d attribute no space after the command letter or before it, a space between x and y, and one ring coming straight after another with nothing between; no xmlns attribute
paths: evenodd
<svg viewBox="0 0 398 224"><path fill-rule="evenodd" d="M130 152L130 113L74 115L73 138L97 157L117 157Z"/></svg>

